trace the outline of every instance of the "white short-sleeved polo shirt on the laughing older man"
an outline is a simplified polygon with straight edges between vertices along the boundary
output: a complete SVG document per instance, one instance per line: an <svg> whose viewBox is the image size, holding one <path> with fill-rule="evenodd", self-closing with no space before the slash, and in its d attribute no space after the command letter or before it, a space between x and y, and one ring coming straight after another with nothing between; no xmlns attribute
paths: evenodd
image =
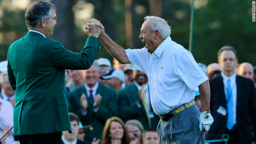
<svg viewBox="0 0 256 144"><path fill-rule="evenodd" d="M192 54L170 36L152 54L146 48L125 51L132 69L147 74L150 102L159 116L194 100L194 89L208 80Z"/></svg>

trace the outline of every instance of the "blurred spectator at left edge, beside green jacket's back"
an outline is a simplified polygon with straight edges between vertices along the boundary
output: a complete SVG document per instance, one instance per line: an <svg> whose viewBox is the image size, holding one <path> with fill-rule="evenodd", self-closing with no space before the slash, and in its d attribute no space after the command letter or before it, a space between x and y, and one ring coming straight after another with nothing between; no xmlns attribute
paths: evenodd
<svg viewBox="0 0 256 144"><path fill-rule="evenodd" d="M7 72L2 72L0 74L0 84L3 89L3 93L1 94L1 98L4 100L8 100L12 103L14 107L15 104L15 90L12 89L10 82L8 80Z"/></svg>

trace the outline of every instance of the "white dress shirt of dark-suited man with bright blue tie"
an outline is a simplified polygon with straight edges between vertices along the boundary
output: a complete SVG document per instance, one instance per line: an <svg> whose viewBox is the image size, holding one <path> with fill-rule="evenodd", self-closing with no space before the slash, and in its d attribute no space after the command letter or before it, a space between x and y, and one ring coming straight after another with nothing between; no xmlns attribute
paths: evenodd
<svg viewBox="0 0 256 144"><path fill-rule="evenodd" d="M228 79L230 79L230 85L232 88L232 100L233 100L233 120L234 120L234 124L236 124L236 99L237 99L236 73L234 73L230 77L221 73L221 76L223 78L225 96L227 96Z"/></svg>

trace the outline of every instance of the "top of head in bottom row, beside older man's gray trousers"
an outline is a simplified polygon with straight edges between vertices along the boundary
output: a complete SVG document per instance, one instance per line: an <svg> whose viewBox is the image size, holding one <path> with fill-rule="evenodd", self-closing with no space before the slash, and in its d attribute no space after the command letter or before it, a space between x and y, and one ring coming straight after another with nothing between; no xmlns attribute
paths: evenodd
<svg viewBox="0 0 256 144"><path fill-rule="evenodd" d="M159 133L156 128L148 128L143 132L143 144L158 144Z"/></svg>

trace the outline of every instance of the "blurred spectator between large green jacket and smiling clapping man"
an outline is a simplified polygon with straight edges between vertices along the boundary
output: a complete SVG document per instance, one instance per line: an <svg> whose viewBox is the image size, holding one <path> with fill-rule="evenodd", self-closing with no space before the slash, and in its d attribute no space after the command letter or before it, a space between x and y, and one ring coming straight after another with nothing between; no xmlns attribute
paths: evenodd
<svg viewBox="0 0 256 144"><path fill-rule="evenodd" d="M69 80L66 86L70 89L70 91L84 84L82 70L68 70L68 76L69 76Z"/></svg>

